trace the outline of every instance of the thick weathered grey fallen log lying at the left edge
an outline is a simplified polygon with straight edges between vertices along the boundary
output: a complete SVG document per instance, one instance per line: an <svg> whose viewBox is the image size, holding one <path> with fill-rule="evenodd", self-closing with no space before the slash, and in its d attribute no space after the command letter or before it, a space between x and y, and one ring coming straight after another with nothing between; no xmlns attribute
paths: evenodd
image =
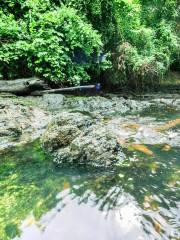
<svg viewBox="0 0 180 240"><path fill-rule="evenodd" d="M47 89L47 84L36 77L0 81L0 92L26 94L36 89Z"/></svg>

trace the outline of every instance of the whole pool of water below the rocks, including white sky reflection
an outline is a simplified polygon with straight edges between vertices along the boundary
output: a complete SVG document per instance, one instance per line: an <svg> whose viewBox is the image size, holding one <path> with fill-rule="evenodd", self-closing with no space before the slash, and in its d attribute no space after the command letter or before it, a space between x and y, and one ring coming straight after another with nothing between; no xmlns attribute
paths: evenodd
<svg viewBox="0 0 180 240"><path fill-rule="evenodd" d="M38 142L12 150L0 159L0 240L179 239L180 149L148 147L111 170L57 167Z"/></svg>

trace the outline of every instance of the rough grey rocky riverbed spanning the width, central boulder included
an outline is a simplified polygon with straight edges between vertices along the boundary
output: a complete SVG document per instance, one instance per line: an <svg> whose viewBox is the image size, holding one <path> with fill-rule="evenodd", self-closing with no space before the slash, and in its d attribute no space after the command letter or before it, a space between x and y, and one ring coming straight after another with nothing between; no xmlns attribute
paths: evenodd
<svg viewBox="0 0 180 240"><path fill-rule="evenodd" d="M1 95L0 153L40 138L44 151L58 164L118 165L126 159L126 151L152 156L154 144L165 151L179 146L179 112L178 94ZM172 119L167 113L173 113Z"/></svg>

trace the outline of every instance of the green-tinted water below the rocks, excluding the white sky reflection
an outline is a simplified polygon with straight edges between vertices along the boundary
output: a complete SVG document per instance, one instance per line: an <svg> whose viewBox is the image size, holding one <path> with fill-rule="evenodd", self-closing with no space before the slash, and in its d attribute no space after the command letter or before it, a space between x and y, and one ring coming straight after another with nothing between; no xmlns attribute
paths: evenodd
<svg viewBox="0 0 180 240"><path fill-rule="evenodd" d="M117 208L118 199L126 192L142 211L146 211L145 225L148 219L154 229L153 219L161 209L161 215L164 214L172 227L173 239L177 239L176 216L168 219L165 210L175 214L173 209L178 207L180 149L165 152L161 145L151 149L154 156L131 153L130 159L108 171L56 167L52 159L44 154L39 142L12 150L0 159L0 239L10 240L20 236L22 221L31 215L35 220L30 219L29 225L32 221L39 221L59 202L57 194L66 189L72 199L79 199L79 204L88 204L90 193L93 193L94 205L101 211ZM132 199L127 197L127 201ZM152 239L161 239L162 236L168 239L170 236L166 229L163 226L159 228L161 235Z"/></svg>

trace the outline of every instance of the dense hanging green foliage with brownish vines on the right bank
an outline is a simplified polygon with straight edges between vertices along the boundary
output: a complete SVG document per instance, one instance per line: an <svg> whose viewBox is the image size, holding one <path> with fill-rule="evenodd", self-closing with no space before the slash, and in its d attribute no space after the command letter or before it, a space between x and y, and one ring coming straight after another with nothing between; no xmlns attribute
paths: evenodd
<svg viewBox="0 0 180 240"><path fill-rule="evenodd" d="M144 87L154 84L172 65L179 68L177 0L70 0L103 36L113 71L108 81Z"/></svg>

